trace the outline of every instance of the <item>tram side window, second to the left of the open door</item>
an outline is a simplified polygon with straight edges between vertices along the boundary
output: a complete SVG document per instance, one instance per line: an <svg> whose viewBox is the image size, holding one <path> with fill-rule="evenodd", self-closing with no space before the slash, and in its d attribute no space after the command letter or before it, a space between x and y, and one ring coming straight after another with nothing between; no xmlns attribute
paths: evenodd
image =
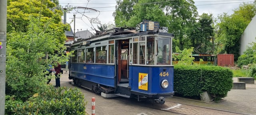
<svg viewBox="0 0 256 115"><path fill-rule="evenodd" d="M106 63L106 46L96 47L96 63Z"/></svg>

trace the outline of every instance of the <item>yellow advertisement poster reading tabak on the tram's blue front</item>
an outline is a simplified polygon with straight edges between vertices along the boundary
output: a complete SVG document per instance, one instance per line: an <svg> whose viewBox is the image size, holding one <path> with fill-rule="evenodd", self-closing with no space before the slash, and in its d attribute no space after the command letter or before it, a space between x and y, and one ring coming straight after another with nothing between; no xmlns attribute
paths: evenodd
<svg viewBox="0 0 256 115"><path fill-rule="evenodd" d="M148 73L139 73L139 89L148 91Z"/></svg>

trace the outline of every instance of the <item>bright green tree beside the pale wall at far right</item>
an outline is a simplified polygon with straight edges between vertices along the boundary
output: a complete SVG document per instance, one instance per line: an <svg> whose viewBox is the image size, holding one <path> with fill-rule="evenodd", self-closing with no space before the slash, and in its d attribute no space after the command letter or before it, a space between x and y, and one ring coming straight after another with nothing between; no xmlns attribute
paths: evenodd
<svg viewBox="0 0 256 115"><path fill-rule="evenodd" d="M255 4L243 3L234 10L234 14L228 16L223 14L219 16L219 36L217 39L224 41L224 51L228 54L234 54L234 60L239 57L240 37L248 26L253 16L256 14ZM245 14L246 13L246 14Z"/></svg>

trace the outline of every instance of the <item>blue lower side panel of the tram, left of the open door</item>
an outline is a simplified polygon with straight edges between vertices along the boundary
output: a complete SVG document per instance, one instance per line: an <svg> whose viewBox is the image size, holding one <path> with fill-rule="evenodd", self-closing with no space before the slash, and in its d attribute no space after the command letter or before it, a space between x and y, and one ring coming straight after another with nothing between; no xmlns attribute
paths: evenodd
<svg viewBox="0 0 256 115"><path fill-rule="evenodd" d="M114 65L71 63L71 76L114 87Z"/></svg>

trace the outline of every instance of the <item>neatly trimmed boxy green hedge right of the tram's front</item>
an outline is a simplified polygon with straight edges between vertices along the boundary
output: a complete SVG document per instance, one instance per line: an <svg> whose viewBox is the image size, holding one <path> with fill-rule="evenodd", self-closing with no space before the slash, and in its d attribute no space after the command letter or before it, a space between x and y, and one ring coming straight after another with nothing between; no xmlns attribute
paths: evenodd
<svg viewBox="0 0 256 115"><path fill-rule="evenodd" d="M219 101L232 88L232 75L226 67L177 64L174 66L174 91L177 95L195 98L207 91L214 101Z"/></svg>

